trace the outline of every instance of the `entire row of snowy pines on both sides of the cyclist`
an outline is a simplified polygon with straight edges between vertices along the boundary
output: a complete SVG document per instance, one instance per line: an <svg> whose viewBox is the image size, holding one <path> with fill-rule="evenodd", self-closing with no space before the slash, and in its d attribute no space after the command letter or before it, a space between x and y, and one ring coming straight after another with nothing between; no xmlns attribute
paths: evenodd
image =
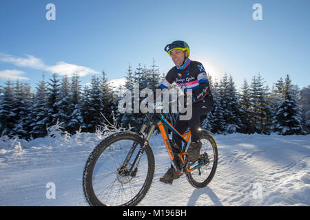
<svg viewBox="0 0 310 220"><path fill-rule="evenodd" d="M128 67L125 86L113 88L105 72L92 76L90 84L81 86L78 74L72 77L56 74L48 81L43 79L32 91L28 83L19 81L0 87L0 135L29 139L44 137L47 128L62 122L69 133L79 129L95 132L105 118L115 120L119 126L139 129L143 113L120 113L118 102L123 99L123 89L155 89L163 80L158 66L147 68L139 64L136 69ZM269 89L263 78L254 76L250 85L245 82L236 90L231 76L209 81L214 95L215 108L201 118L201 126L214 133L262 133L304 135L309 133L309 87L300 91L291 84L289 76L280 78ZM103 118L103 115L105 118ZM173 123L176 113L167 113Z"/></svg>

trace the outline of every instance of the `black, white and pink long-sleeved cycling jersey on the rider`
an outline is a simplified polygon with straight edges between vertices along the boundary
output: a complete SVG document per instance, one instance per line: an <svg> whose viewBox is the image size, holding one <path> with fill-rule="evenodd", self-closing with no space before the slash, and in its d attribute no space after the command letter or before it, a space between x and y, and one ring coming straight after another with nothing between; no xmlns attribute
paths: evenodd
<svg viewBox="0 0 310 220"><path fill-rule="evenodd" d="M213 99L203 64L191 61L189 58L185 63L187 64L183 69L178 69L175 66L169 70L163 83L161 83L161 89L169 89L175 82L185 94L192 95L194 103L208 98ZM192 93L188 92L189 89L192 89Z"/></svg>

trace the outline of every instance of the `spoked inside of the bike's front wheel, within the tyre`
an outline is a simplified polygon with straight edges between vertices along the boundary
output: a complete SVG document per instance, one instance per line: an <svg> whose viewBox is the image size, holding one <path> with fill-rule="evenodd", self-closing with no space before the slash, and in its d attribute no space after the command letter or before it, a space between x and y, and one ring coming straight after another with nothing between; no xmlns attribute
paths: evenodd
<svg viewBox="0 0 310 220"><path fill-rule="evenodd" d="M145 153L140 159L136 173L130 174L130 168L140 147L137 147L129 161L123 164L133 145L132 140L116 141L105 148L96 159L92 188L96 198L107 206L120 206L132 201L138 193L141 193L141 188L147 179L149 167Z"/></svg>

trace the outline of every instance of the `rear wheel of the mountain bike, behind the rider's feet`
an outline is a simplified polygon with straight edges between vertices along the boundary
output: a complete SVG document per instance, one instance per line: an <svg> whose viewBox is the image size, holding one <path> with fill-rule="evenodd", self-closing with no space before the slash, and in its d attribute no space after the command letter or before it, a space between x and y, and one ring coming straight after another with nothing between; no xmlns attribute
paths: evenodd
<svg viewBox="0 0 310 220"><path fill-rule="evenodd" d="M192 172L186 172L189 183L195 188L203 188L209 184L216 173L218 164L218 149L216 142L207 132L200 133L200 142L203 146L200 149L200 158L194 165L201 165Z"/></svg>

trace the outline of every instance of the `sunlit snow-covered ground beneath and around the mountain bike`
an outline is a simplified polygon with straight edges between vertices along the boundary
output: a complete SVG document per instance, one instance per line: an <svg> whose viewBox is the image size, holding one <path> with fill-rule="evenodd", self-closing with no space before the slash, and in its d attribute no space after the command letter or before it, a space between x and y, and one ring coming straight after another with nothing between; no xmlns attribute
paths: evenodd
<svg viewBox="0 0 310 220"><path fill-rule="evenodd" d="M87 206L83 166L101 138L101 133L30 142L2 137L0 206ZM310 135L236 133L215 140L216 175L196 189L185 175L172 185L159 181L170 162L161 136L154 135L154 180L139 206L310 206Z"/></svg>

